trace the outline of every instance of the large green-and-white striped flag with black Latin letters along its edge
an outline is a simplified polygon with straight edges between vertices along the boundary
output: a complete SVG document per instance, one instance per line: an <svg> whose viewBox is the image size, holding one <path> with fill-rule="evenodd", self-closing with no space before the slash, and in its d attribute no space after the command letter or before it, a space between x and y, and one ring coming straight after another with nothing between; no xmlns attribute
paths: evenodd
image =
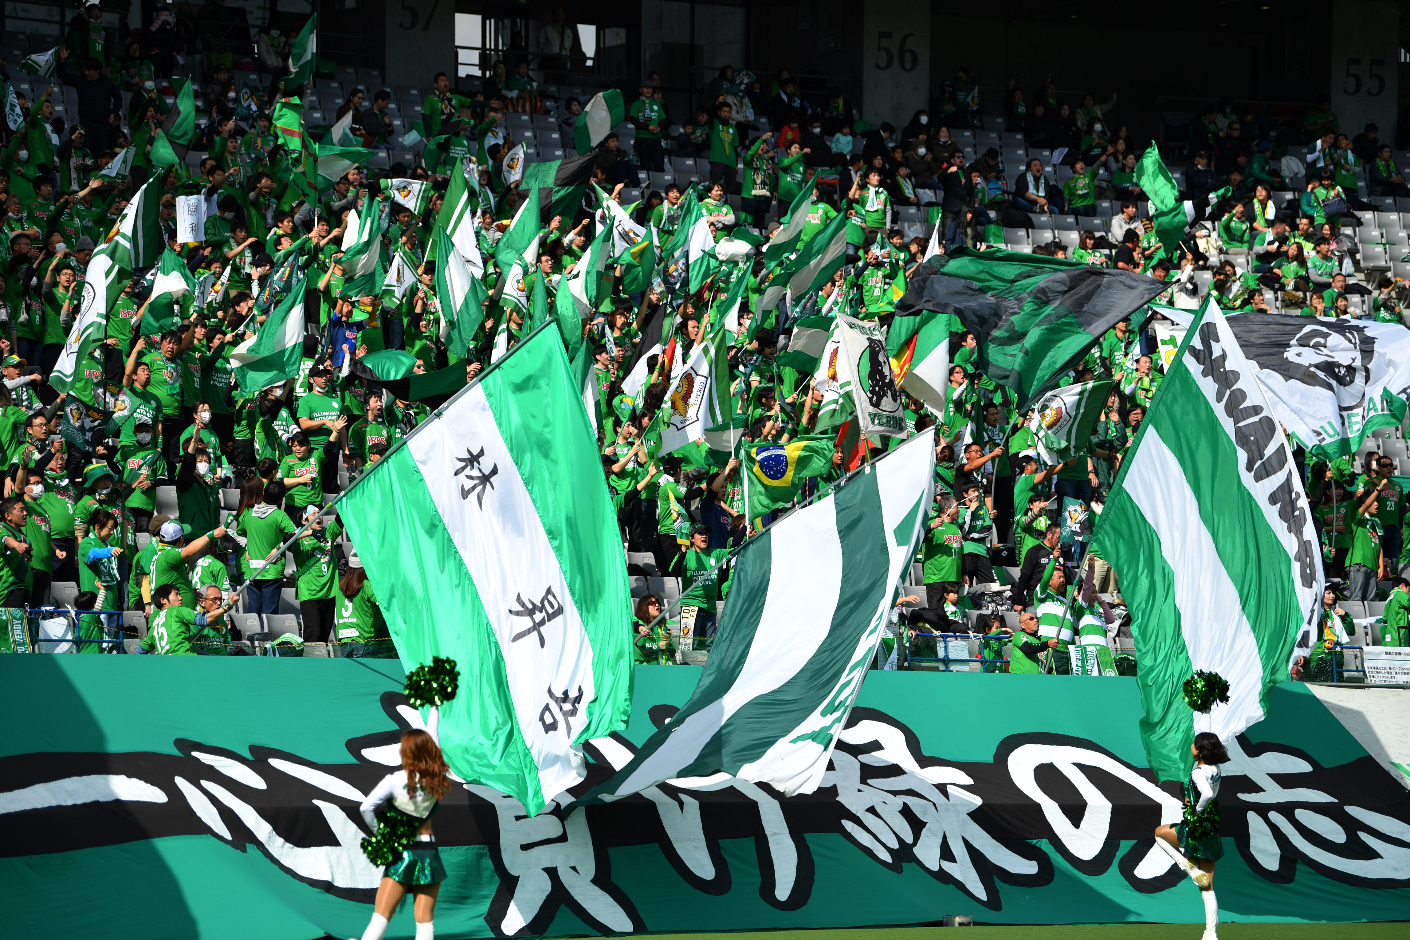
<svg viewBox="0 0 1410 940"><path fill-rule="evenodd" d="M1206 302L1121 464L1093 544L1131 609L1141 737L1156 777L1184 781L1197 731L1232 740L1311 650L1321 545L1301 476L1253 366ZM1196 669L1230 684L1191 712Z"/></svg>

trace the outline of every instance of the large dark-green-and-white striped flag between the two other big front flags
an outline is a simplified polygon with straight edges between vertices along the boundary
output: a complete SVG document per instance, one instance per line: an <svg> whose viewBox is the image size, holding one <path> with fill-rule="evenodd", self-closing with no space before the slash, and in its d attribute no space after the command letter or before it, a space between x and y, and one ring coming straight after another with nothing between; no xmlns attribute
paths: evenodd
<svg viewBox="0 0 1410 940"><path fill-rule="evenodd" d="M584 802L713 774L785 796L818 789L909 569L933 469L933 434L921 434L749 540L691 700Z"/></svg>

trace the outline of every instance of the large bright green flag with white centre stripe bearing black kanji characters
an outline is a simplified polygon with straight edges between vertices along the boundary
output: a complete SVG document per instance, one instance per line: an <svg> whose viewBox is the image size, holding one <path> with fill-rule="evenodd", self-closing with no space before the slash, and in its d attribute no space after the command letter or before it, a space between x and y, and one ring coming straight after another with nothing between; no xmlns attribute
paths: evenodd
<svg viewBox="0 0 1410 940"><path fill-rule="evenodd" d="M632 596L601 466L548 328L344 496L403 665L460 667L460 695L440 707L451 769L529 815L585 778L582 743L623 729L630 709Z"/></svg>

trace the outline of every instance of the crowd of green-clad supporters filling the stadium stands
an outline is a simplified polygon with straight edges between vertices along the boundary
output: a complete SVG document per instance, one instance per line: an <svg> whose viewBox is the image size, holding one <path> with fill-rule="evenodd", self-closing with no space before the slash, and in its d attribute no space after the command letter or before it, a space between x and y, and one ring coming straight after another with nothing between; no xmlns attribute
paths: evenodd
<svg viewBox="0 0 1410 940"><path fill-rule="evenodd" d="M785 512L749 517L737 452L697 443L661 457L658 440L653 447L673 368L719 327L716 300L733 278L749 280L729 345L746 445L836 438L799 502L900 440L867 444L845 424L819 424L822 389L785 355L799 311L845 309L887 327L907 276L935 251L1007 248L1134 271L1167 282L1158 303L1175 307L1213 296L1228 310L1402 323L1404 155L1375 125L1341 128L1325 103L1270 124L1225 100L1194 120L1189 142L1167 154L1172 176L1186 199L1217 199L1169 251L1136 182L1151 144L1128 132L1117 96L1069 99L1046 82L1031 97L1011 87L988 101L959 69L931 109L863 116L838 90L801 96L787 70L756 78L725 68L697 90L692 111L673 116L649 75L622 89L625 120L596 145L591 186L541 218L537 259L519 272L516 297L499 283L513 272L494 261L525 199L523 166L512 163L572 159L564 144L588 106L588 94L544 82L551 56L496 63L484 80L441 73L415 93L419 123L409 120L410 92L375 80L314 75L290 86L276 68L237 86L216 65L189 76L199 130L189 152L175 154L159 128L176 100L182 47L171 10L155 10L147 30L124 25L114 35L94 27L97 4L86 7L54 51L52 79L6 63L23 111L0 151L0 595L11 648L32 647L35 623L48 616L38 610L61 606L80 614L82 653L224 654L276 640L271 624L281 623L293 645L392 655L375 585L336 507L323 507L429 414L407 375L451 371L464 385L537 326L517 297L541 282L554 303L587 264L598 225L613 217L608 200L657 249L692 206L716 242L743 247L733 271L726 265L695 292L668 286L664 264L640 278L634 254L615 256L609 286L581 317L639 662L680 661L689 636L682 621L695 643L712 636L729 588L721 562ZM292 35L261 34L266 61L286 61ZM56 87L76 97L68 120L55 116ZM299 96L307 134L351 116L352 144L368 151L313 193L298 185L296 155L272 130L279 100ZM474 168L489 299L460 354L447 344L450 314L429 254L462 165ZM426 180L433 194L417 211L391 180ZM55 371L94 251L144 183L162 190L169 252L202 287L176 297L168 314L154 289L164 272L130 272L102 342L59 390ZM842 214L846 264L815 297L756 317L764 251L805 192L816 202L792 251ZM212 209L203 240L178 241L176 199L193 194ZM382 214L379 264L400 258L415 283L367 289L344 279L351 210ZM241 388L231 352L257 337L290 269L306 275L302 365L265 388ZM1066 376L1107 378L1114 388L1086 452L1060 465L1039 462L1031 414L976 369L979 338L969 333L950 340L943 407L907 396L908 430L938 435L936 492L887 641L893 664L938 657L950 668L940 634L983 638L983 668L1015 672L1055 668L1052 648L1129 643L1115 572L1087 551L1087 537L1160 385L1152 316L1118 324ZM1397 458L1379 452L1363 466L1347 458L1306 468L1328 569L1345 571L1352 600L1372 600L1410 561L1404 493L1390 479L1397 471ZM272 558L295 534L288 561ZM1063 602L1080 579L1090 624ZM59 596L55 585L78 590ZM1342 616L1335 600L1328 624ZM25 609L37 613L17 613ZM1404 614L1403 599L1392 598L1386 619L1397 623L1387 630L1403 630ZM1330 636L1341 629L1328 626Z"/></svg>

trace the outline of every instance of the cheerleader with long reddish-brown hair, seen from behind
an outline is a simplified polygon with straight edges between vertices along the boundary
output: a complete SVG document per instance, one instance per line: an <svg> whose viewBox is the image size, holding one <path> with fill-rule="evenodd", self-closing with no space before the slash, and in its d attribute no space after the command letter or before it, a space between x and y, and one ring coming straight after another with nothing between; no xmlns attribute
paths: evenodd
<svg viewBox="0 0 1410 940"><path fill-rule="evenodd" d="M446 879L446 868L436 851L430 819L450 789L447 774L450 768L446 767L436 738L413 729L402 734L402 769L384 777L362 800L360 809L371 831L378 830L376 810L385 803L391 803L386 809L389 819L382 826L393 823L391 817L400 816L415 829L413 841L382 872L372 922L362 932L362 940L382 940L386 922L407 891L416 895L416 940L431 940L436 936L436 895L440 892L440 882Z"/></svg>

